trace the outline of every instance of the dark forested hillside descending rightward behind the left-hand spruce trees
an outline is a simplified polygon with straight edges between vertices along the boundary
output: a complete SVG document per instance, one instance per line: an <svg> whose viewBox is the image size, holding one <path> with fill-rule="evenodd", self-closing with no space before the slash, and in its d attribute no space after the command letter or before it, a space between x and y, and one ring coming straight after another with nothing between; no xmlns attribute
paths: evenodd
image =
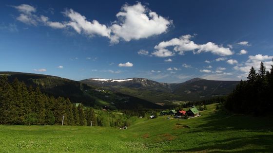
<svg viewBox="0 0 273 153"><path fill-rule="evenodd" d="M88 106L106 106L111 109L161 108L157 104L130 95L101 90L97 86L61 77L21 72L0 72L0 74L7 74L9 82L17 78L27 86L39 87L46 94L69 98L72 102L82 102Z"/></svg>

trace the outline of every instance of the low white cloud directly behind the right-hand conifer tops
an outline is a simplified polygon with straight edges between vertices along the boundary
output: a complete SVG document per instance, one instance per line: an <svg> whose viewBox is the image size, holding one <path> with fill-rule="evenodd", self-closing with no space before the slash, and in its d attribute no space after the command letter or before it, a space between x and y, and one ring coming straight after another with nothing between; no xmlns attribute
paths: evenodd
<svg viewBox="0 0 273 153"><path fill-rule="evenodd" d="M271 65L273 65L272 62L273 56L269 55L251 55L249 56L249 59L244 63L243 66L235 66L233 67L235 70L239 70L241 72L248 73L251 67L254 67L256 70L260 68L261 62L264 63L264 66L267 68L267 70L270 70Z"/></svg>

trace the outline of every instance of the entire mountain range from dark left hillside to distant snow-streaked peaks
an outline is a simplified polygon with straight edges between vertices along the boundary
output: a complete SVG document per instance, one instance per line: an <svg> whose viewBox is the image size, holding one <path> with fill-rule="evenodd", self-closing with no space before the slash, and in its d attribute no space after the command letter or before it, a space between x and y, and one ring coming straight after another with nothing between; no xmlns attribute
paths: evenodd
<svg viewBox="0 0 273 153"><path fill-rule="evenodd" d="M66 97L72 102L112 109L162 108L179 102L210 99L228 95L238 81L214 81L194 78L180 84L159 83L145 78L100 79L74 81L51 75L0 72L27 86L39 87L54 97ZM178 103L177 103L178 102Z"/></svg>

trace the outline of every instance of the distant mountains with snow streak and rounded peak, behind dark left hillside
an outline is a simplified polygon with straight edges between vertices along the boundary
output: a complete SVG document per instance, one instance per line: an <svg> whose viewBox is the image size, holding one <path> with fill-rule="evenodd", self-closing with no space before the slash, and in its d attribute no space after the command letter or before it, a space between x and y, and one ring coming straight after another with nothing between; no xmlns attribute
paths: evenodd
<svg viewBox="0 0 273 153"><path fill-rule="evenodd" d="M194 78L181 84L158 83L144 78L85 79L80 82L135 96L150 102L195 101L232 92L239 81Z"/></svg>

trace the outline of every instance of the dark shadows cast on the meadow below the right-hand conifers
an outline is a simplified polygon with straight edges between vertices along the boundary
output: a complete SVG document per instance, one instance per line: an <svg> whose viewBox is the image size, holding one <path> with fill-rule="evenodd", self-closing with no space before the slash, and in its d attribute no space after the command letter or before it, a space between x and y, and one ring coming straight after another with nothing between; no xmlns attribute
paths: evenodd
<svg viewBox="0 0 273 153"><path fill-rule="evenodd" d="M217 132L258 132L254 135L236 136L223 140L213 140L195 145L190 149L165 150L166 152L202 153L273 153L273 119L255 118L243 115L226 115L215 112L203 119L189 133ZM241 134L242 135L242 134Z"/></svg>

